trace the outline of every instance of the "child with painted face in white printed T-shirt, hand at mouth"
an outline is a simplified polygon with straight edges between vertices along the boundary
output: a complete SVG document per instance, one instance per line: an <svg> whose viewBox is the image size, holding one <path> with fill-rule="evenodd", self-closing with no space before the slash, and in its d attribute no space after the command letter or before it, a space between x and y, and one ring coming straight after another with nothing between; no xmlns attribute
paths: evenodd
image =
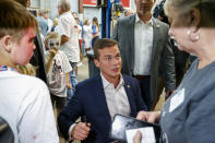
<svg viewBox="0 0 215 143"><path fill-rule="evenodd" d="M51 103L57 108L57 115L65 105L67 88L72 88L69 72L72 67L63 51L59 50L60 37L57 33L48 33L45 45L49 49L46 55L47 81L51 95Z"/></svg>

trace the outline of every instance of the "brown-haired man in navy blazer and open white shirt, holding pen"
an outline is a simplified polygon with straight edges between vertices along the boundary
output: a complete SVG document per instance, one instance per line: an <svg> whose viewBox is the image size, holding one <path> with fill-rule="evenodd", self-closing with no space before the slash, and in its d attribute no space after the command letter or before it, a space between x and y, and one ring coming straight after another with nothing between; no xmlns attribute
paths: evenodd
<svg viewBox="0 0 215 143"><path fill-rule="evenodd" d="M67 140L110 143L108 135L116 114L136 117L139 110L147 109L138 81L121 74L118 43L98 39L94 56L100 74L76 85L74 96L58 117L58 126ZM79 117L84 117L88 123L75 123Z"/></svg>

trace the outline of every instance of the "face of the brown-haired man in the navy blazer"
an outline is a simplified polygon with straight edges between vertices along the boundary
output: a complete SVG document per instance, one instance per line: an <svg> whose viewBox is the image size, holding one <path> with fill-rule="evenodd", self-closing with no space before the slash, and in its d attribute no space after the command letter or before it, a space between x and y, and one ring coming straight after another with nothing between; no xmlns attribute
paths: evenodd
<svg viewBox="0 0 215 143"><path fill-rule="evenodd" d="M99 57L95 59L95 64L107 81L120 76L121 56L118 46L99 49Z"/></svg>

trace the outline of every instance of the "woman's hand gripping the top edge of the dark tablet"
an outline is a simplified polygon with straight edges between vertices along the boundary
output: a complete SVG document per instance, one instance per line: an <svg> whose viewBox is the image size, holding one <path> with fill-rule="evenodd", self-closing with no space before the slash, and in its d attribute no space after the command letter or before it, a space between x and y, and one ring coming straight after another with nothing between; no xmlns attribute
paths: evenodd
<svg viewBox="0 0 215 143"><path fill-rule="evenodd" d="M160 111L139 111L136 119L154 123L159 119L159 116Z"/></svg>

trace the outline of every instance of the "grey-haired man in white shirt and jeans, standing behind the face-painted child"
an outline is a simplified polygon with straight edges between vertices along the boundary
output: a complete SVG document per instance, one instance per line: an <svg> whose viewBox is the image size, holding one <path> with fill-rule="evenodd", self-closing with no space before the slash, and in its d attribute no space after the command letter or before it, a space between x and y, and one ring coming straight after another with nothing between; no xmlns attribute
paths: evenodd
<svg viewBox="0 0 215 143"><path fill-rule="evenodd" d="M72 71L70 72L70 83L72 90L68 90L67 103L74 95L75 85L77 84L75 68L80 61L80 47L79 47L79 29L74 17L70 12L71 5L68 0L60 0L58 3L59 23L56 32L61 37L60 50L68 57Z"/></svg>

